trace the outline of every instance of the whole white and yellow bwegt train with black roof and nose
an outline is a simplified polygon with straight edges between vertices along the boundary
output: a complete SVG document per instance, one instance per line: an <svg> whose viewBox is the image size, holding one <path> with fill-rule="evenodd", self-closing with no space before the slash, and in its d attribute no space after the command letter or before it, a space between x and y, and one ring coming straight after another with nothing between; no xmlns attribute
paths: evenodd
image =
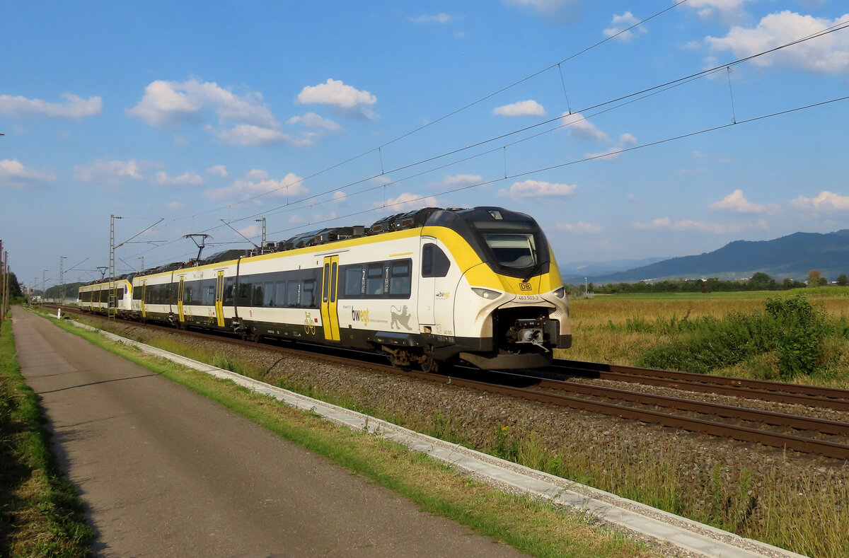
<svg viewBox="0 0 849 558"><path fill-rule="evenodd" d="M374 349L435 370L548 365L571 345L554 254L531 217L421 209L80 287L83 310L141 321Z"/></svg>

